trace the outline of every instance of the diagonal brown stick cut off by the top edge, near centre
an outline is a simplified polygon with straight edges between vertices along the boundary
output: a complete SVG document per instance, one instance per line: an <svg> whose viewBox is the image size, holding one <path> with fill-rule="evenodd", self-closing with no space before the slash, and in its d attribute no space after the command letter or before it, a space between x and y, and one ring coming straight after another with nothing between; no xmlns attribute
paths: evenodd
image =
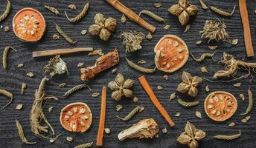
<svg viewBox="0 0 256 148"><path fill-rule="evenodd" d="M144 21L144 19L141 19L135 12L130 10L128 7L124 6L120 1L118 0L106 0L109 4L111 4L115 9L123 13L125 16L127 16L131 21L135 21L141 27L144 27L145 29L149 30L151 33L154 33L156 30L156 27L154 27L152 24L147 23L147 21Z"/></svg>

